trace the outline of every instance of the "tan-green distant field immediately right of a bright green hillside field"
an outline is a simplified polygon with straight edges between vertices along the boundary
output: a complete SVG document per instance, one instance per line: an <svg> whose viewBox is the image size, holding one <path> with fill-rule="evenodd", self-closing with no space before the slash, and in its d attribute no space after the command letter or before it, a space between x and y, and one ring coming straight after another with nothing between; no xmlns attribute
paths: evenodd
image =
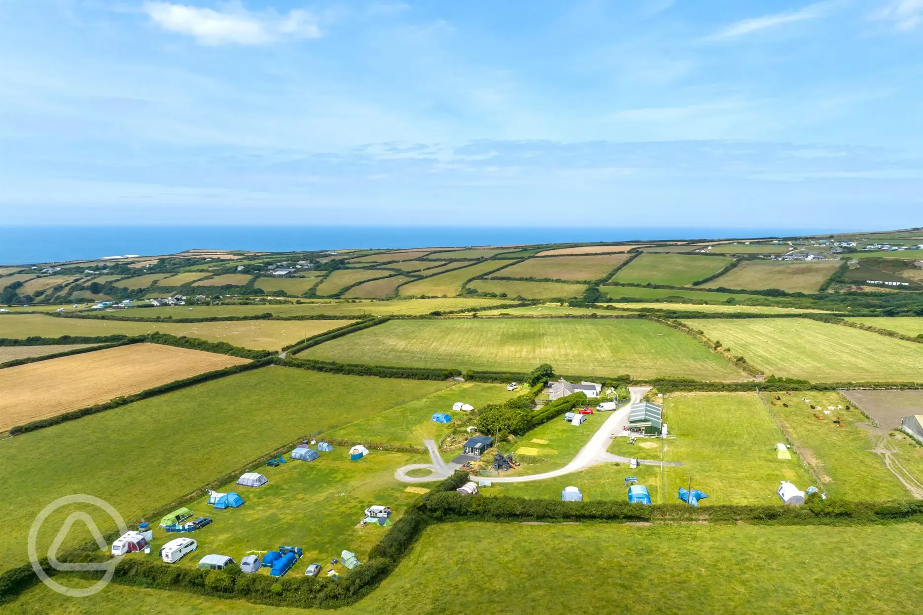
<svg viewBox="0 0 923 615"><path fill-rule="evenodd" d="M841 265L840 261L787 262L745 261L721 278L705 286L710 288L763 290L781 289L786 292L817 292L821 284Z"/></svg>

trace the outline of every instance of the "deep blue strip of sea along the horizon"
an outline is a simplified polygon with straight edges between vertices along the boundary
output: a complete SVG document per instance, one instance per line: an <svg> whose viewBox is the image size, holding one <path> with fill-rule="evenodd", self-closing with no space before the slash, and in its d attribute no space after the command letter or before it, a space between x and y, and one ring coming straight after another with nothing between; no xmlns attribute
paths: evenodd
<svg viewBox="0 0 923 615"><path fill-rule="evenodd" d="M845 230L781 227L0 227L0 265L31 265L125 254L174 254L194 248L293 252L347 248L793 237L842 231Z"/></svg>

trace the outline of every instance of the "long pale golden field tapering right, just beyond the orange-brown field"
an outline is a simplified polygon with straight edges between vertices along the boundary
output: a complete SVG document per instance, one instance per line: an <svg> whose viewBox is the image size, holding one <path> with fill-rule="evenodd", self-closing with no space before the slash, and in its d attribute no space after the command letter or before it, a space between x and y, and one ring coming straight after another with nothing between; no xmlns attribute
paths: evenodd
<svg viewBox="0 0 923 615"><path fill-rule="evenodd" d="M147 308L147 310L160 308ZM360 310L356 310L359 312ZM266 312L262 306L250 306L249 314ZM177 317L192 313L174 312ZM204 315L204 313L199 313ZM29 336L140 336L159 331L174 336L201 337L213 342L227 342L256 350L277 350L299 339L346 325L348 320L236 320L217 323L137 323L124 320L90 318L56 318L43 314L23 314L0 318L0 337L18 339Z"/></svg>

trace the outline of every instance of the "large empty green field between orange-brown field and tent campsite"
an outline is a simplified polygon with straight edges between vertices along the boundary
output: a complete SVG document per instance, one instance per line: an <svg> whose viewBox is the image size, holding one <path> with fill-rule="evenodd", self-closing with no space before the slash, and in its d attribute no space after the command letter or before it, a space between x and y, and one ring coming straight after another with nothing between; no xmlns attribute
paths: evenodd
<svg viewBox="0 0 923 615"><path fill-rule="evenodd" d="M0 571L25 561L31 520L57 497L90 493L132 523L295 438L446 386L265 367L6 440ZM60 527L59 513L45 526Z"/></svg>

